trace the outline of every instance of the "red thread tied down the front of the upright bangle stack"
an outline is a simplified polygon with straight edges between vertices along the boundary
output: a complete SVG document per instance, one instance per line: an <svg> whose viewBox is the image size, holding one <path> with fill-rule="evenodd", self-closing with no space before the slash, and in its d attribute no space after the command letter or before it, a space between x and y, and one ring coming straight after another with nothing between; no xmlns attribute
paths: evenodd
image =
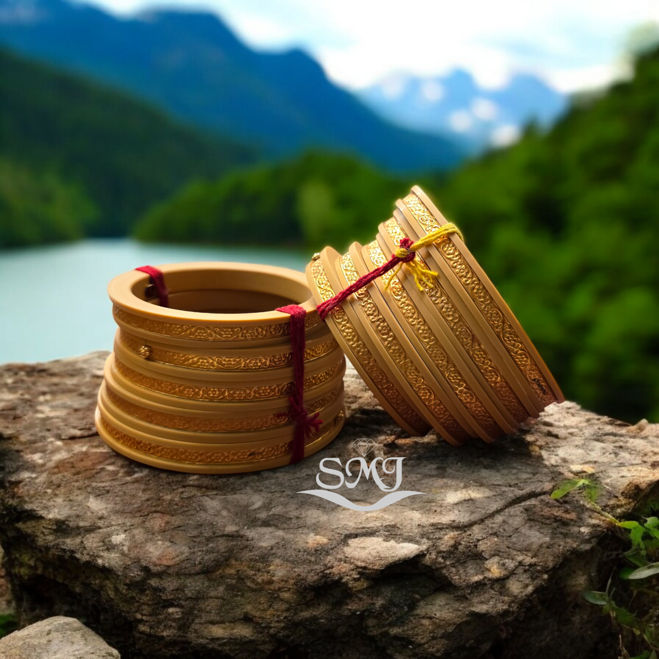
<svg viewBox="0 0 659 659"><path fill-rule="evenodd" d="M280 306L281 311L291 316L291 348L293 349L293 376L295 378L295 389L289 397L291 403L291 418L295 420L293 431L293 454L291 465L304 458L304 442L312 432L320 430L322 420L318 418L318 412L310 415L304 407L304 319L306 310L299 304L288 304Z"/></svg>

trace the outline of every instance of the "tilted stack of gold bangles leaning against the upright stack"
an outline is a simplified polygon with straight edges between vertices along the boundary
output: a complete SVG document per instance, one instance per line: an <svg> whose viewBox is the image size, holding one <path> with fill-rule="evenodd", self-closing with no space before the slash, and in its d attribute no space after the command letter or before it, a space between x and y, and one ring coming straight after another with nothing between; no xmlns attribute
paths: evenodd
<svg viewBox="0 0 659 659"><path fill-rule="evenodd" d="M326 247L307 266L316 302L331 299L447 222L415 186L372 243L346 254ZM411 434L429 426L451 444L511 434L563 395L515 316L457 234L416 252L437 277L421 283L403 266L334 308L335 339L382 407Z"/></svg>

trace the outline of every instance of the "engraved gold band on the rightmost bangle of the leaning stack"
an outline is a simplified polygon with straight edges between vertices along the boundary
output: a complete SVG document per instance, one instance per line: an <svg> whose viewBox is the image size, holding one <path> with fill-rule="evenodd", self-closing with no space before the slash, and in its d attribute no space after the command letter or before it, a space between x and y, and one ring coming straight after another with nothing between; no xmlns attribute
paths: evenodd
<svg viewBox="0 0 659 659"><path fill-rule="evenodd" d="M403 202L405 202L405 206L409 208L416 220L428 233L439 229L440 224L437 219L416 194L408 194ZM442 258L444 258L449 268L453 270L453 273L455 273L455 276L469 294L469 297L471 297L485 320L487 320L490 327L494 330L503 347L505 347L508 354L513 358L515 365L519 368L519 371L526 378L527 382L529 382L542 405L550 405L556 402L556 396L542 375L540 368L538 368L538 364L531 357L522 339L513 326L511 326L509 320L505 317L503 311L501 311L500 306L494 301L488 289L480 281L478 275L469 266L465 257L460 253L460 250L455 246L455 243L449 237L444 236L435 245L440 254L442 254Z"/></svg>

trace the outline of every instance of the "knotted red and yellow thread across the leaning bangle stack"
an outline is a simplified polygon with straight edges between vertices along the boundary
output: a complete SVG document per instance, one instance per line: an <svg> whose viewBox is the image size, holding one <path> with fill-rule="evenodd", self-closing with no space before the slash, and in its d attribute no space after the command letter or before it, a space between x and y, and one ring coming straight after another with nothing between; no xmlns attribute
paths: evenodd
<svg viewBox="0 0 659 659"><path fill-rule="evenodd" d="M362 288L364 288L364 286L368 286L368 284L370 284L378 277L382 277L382 275L385 275L387 272L389 272L389 270L399 266L388 277L387 283L385 285L385 290L387 290L389 288L389 284L391 284L391 281L393 280L393 277L397 275L399 270L403 267L404 263L407 264L407 267L414 277L416 287L420 291L423 291L424 285L433 287L435 285L434 277L438 277L439 275L432 270L427 270L418 261L416 261L416 252L418 252L420 248L438 241L442 236L449 235L449 233L457 233L460 239L464 241L460 229L458 229L455 224L451 222L443 225L435 231L432 231L431 233L428 233L422 239L416 241L416 243L413 243L413 241L407 237L401 238L399 247L394 252L394 254L391 255L391 258L386 263L382 264L382 266L376 268L375 270L371 270L371 272L368 274L359 277L355 283L352 283L349 285L349 287L343 289L343 291L337 293L337 295L334 297L331 297L329 300L318 304L318 315L322 320L325 320L326 316L329 314L329 312L331 312L333 308L339 306L339 304L342 302L345 302L351 295L353 295L353 293L357 293L357 291L360 291Z"/></svg>

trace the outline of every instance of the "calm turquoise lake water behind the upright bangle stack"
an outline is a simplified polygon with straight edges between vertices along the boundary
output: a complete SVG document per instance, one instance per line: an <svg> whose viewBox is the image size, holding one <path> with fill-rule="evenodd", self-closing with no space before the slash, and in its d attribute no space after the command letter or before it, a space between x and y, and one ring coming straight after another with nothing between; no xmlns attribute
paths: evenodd
<svg viewBox="0 0 659 659"><path fill-rule="evenodd" d="M304 270L303 251L82 241L0 251L0 364L111 350L107 283L137 266L239 261Z"/></svg>

